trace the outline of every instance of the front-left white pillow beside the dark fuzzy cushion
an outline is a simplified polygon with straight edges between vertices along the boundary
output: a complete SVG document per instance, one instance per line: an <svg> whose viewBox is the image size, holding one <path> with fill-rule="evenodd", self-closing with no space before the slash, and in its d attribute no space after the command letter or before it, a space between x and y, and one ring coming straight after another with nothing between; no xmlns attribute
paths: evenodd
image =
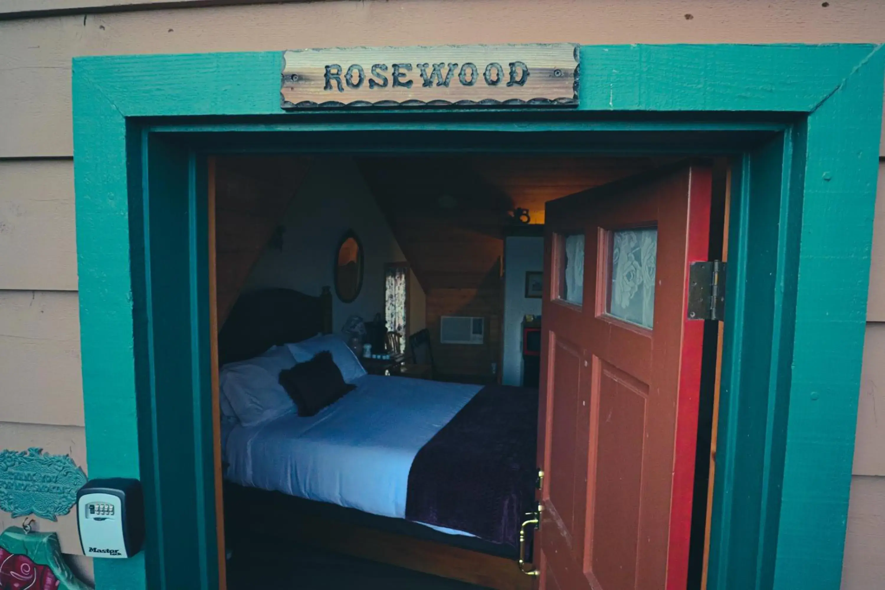
<svg viewBox="0 0 885 590"><path fill-rule="evenodd" d="M227 398L243 426L259 425L295 411L295 403L280 385L280 372L296 365L285 346L221 368L221 395ZM222 410L223 411L223 410Z"/></svg>

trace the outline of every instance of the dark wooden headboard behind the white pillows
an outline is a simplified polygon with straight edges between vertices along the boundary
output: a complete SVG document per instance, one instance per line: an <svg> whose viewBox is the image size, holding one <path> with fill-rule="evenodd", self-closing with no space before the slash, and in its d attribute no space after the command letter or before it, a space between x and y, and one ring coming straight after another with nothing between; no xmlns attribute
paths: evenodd
<svg viewBox="0 0 885 590"><path fill-rule="evenodd" d="M240 295L219 333L219 365L258 356L277 344L332 332L332 293L319 297L273 288Z"/></svg>

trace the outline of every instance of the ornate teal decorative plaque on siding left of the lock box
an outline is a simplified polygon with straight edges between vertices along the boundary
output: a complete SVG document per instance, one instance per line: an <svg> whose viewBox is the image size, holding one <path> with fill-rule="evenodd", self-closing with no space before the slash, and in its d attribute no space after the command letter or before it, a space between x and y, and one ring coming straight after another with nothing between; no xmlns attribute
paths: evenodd
<svg viewBox="0 0 885 590"><path fill-rule="evenodd" d="M0 510L12 517L34 514L56 520L77 500L86 474L67 455L44 455L42 448L0 451Z"/></svg>

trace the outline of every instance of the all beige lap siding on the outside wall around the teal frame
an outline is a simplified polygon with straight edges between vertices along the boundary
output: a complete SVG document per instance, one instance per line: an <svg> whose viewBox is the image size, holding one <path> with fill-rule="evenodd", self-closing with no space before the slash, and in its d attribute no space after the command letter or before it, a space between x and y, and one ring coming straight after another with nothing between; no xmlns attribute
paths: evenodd
<svg viewBox="0 0 885 590"><path fill-rule="evenodd" d="M114 0L7 0L106 11ZM119 0L121 8L157 0ZM188 4L175 2L173 4ZM196 3L194 3L196 4ZM209 4L209 3L202 3ZM822 4L827 4L823 6ZM0 20L0 448L38 445L85 466L74 254L71 58L329 45L498 42L878 42L871 0L393 0L265 4ZM3 161L4 158L15 158ZM26 158L26 159L18 159ZM37 159L34 159L37 158ZM882 169L880 169L882 176ZM882 183L881 183L882 184ZM880 195L882 194L880 187ZM885 200L885 199L881 199ZM843 590L881 586L885 560L885 216L876 219ZM65 292L67 291L67 292ZM881 376L880 376L881 373ZM29 423L29 424L15 424ZM42 424L42 425L41 425ZM78 438L79 437L79 438ZM9 522L0 514L0 525ZM70 517L58 524L79 552Z"/></svg>

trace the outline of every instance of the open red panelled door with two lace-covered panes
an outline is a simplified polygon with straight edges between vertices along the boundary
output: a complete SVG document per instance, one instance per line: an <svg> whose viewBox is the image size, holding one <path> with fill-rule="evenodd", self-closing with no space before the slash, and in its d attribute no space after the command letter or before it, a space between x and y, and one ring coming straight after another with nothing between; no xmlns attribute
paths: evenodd
<svg viewBox="0 0 885 590"><path fill-rule="evenodd" d="M692 164L547 203L543 589L686 587L711 190Z"/></svg>

